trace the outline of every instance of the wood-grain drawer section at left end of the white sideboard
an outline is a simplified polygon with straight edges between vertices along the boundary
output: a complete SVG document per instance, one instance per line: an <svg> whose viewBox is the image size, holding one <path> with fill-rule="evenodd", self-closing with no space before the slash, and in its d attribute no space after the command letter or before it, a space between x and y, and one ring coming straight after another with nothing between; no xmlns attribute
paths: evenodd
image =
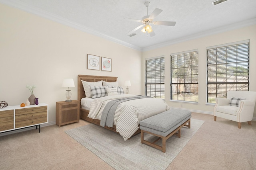
<svg viewBox="0 0 256 170"><path fill-rule="evenodd" d="M0 131L6 131L14 128L13 113L14 110L0 111Z"/></svg>

